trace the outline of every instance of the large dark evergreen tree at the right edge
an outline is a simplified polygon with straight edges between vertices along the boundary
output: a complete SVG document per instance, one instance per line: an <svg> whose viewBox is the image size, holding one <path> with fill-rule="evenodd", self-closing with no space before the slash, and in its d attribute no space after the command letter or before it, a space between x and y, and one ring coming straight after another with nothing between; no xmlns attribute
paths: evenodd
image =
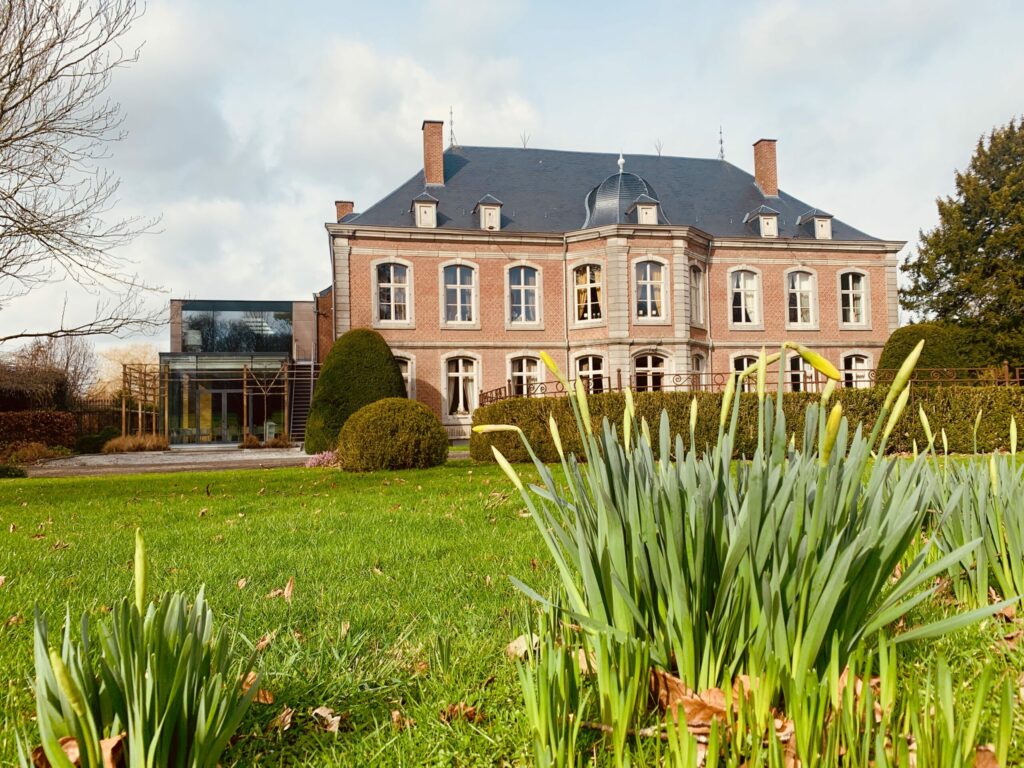
<svg viewBox="0 0 1024 768"><path fill-rule="evenodd" d="M940 199L939 224L921 233L901 303L937 321L984 332L993 351L1024 356L1024 124L978 139L956 194Z"/></svg>

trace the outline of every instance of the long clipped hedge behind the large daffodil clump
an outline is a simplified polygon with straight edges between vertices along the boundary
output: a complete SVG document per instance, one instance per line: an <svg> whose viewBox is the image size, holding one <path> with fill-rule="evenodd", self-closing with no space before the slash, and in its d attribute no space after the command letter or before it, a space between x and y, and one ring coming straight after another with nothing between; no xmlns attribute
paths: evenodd
<svg viewBox="0 0 1024 768"><path fill-rule="evenodd" d="M885 400L886 387L837 390L833 402L839 400L852 424L863 422L870 429L876 415ZM637 418L646 418L651 431L657 431L662 411L669 412L669 425L675 434L682 434L689 442L690 400L697 399L696 443L711 444L718 435L718 420L722 395L715 392L641 392L635 395ZM804 430L804 412L807 404L818 395L787 393L783 395L786 430L796 434L798 443ZM595 428L607 418L615 425L622 424L626 398L621 392L592 395L589 398L591 418ZM913 440L919 445L926 442L925 431L918 418L918 408L925 410L932 429L939 433L945 429L951 453L971 453L973 450L974 420L982 411L978 428L978 450L1006 449L1010 441L1010 417L1015 416L1024 429L1024 388L1021 387L918 387L911 390L910 401L903 418L889 439L890 453L911 451ZM736 435L736 455L754 453L757 428L757 397L740 397L739 427ZM473 414L476 424L514 424L523 430L534 451L545 462L558 461L558 454L548 434L548 417L554 415L562 444L567 453L582 453L580 436L575 430L572 413L565 397L514 398L484 406ZM655 437L656 442L656 437ZM476 461L494 461L490 446L498 449L515 462L528 461L519 438L510 432L488 434L473 433L470 455ZM941 445L939 447L941 451Z"/></svg>

